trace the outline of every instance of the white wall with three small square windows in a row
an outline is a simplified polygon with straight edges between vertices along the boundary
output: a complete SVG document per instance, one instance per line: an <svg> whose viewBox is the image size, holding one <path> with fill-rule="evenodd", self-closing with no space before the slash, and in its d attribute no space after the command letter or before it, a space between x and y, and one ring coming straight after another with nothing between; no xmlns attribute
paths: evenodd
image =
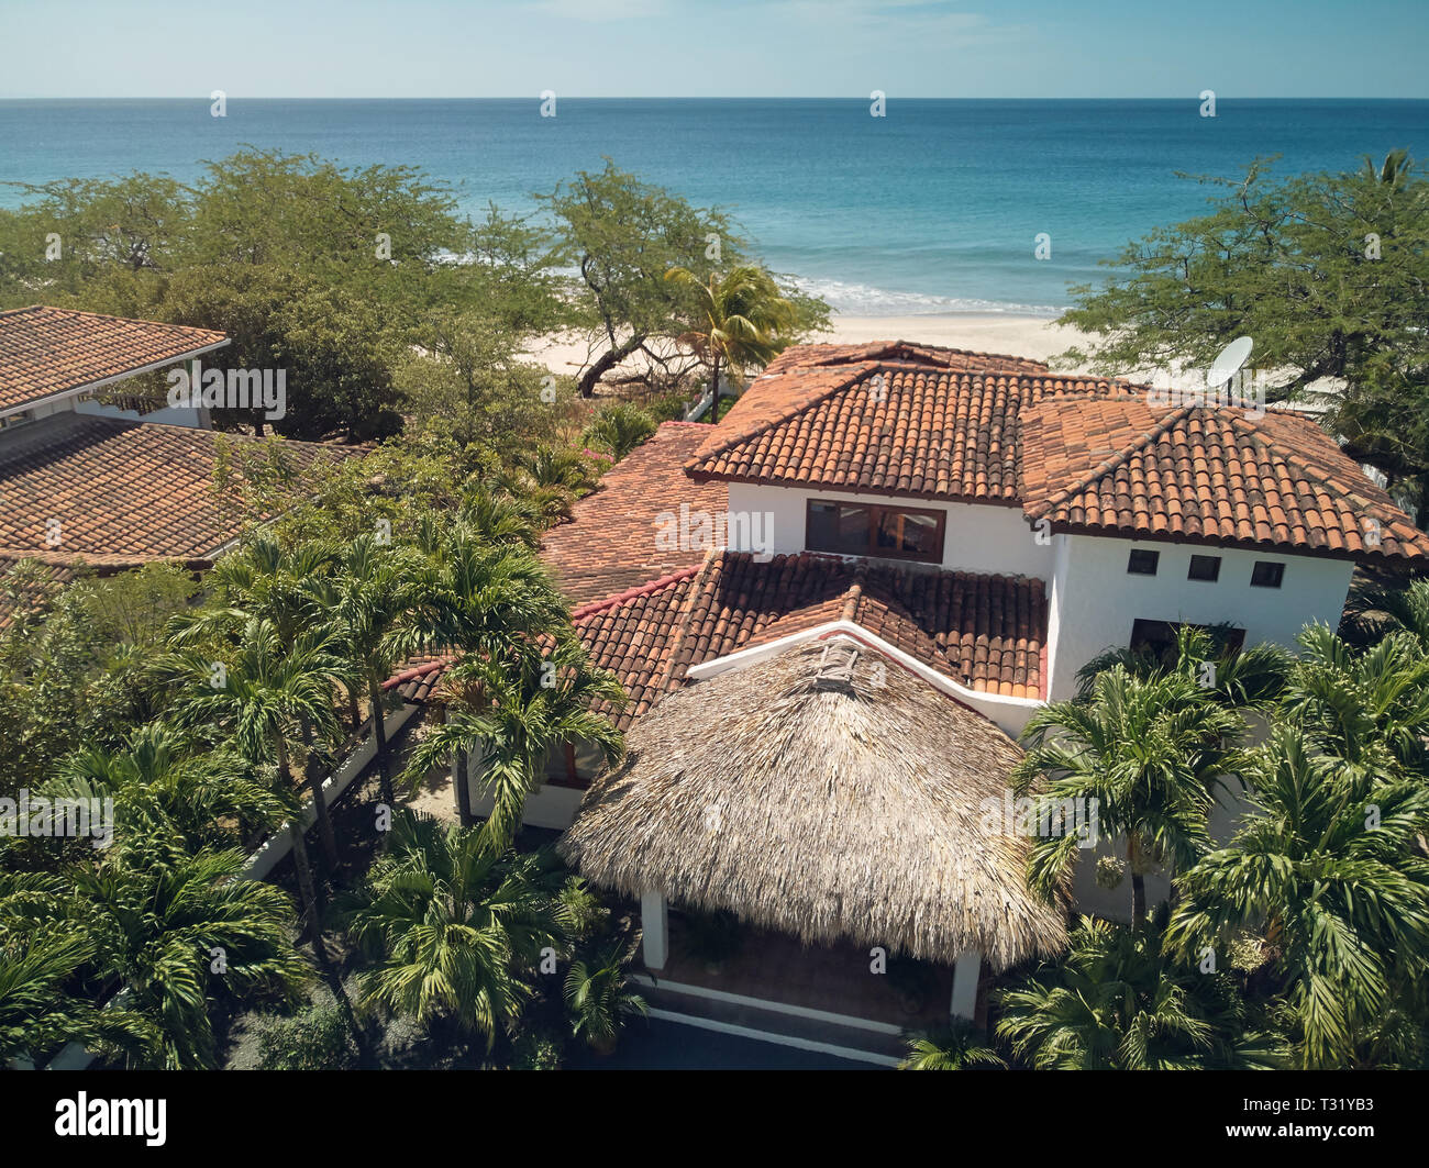
<svg viewBox="0 0 1429 1168"><path fill-rule="evenodd" d="M1248 645L1270 641L1295 648L1296 634L1310 621L1339 624L1355 571L1348 560L1270 551L1096 535L1057 535L1053 543L1059 547L1047 637L1053 701L1073 695L1076 671L1102 650L1129 645L1137 620L1229 621L1246 631ZM1127 555L1136 547L1160 553L1156 575L1126 571ZM1219 555L1219 580L1187 580L1192 555ZM1279 588L1250 587L1258 560L1285 564Z"/></svg>

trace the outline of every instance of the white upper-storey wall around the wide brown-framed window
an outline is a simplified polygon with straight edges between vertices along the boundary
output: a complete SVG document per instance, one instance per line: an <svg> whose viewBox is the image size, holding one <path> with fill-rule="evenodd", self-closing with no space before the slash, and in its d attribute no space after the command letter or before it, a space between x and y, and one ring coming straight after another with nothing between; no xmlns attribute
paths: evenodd
<svg viewBox="0 0 1429 1168"><path fill-rule="evenodd" d="M899 503L926 511L947 514L943 537L943 567L953 571L993 573L997 575L1052 577L1053 538L1037 541L1020 507L989 503L937 503L892 494L850 494L845 491L806 490L803 487L767 487L757 483L730 483L732 513L767 513L773 515L775 555L805 551L805 520L810 498L839 503ZM736 547L736 551L755 548ZM900 561L902 563L902 561Z"/></svg>

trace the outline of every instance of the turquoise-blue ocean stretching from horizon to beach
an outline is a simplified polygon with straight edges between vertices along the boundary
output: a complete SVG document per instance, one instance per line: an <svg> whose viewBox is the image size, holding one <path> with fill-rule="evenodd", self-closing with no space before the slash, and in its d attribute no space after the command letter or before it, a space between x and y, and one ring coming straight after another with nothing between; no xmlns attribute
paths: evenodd
<svg viewBox="0 0 1429 1168"><path fill-rule="evenodd" d="M612 158L697 204L726 207L760 256L843 313L1052 316L1067 286L1233 177L1346 170L1429 144L1429 101L537 99L0 101L0 183L131 170L199 176L240 144L349 166L422 167L464 207L530 211ZM0 186L0 206L23 193ZM1049 240L1039 258L1037 237Z"/></svg>

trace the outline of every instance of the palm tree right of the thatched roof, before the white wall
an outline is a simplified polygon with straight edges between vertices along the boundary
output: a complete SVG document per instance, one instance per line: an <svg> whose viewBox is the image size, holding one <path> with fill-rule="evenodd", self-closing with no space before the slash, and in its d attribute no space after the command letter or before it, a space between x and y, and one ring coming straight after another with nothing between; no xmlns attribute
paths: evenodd
<svg viewBox="0 0 1429 1168"><path fill-rule="evenodd" d="M1090 800L1100 831L1125 837L1132 877L1132 927L1146 920L1149 864L1189 867L1208 848L1206 821L1222 781L1226 745L1243 723L1182 674L1102 673L1089 701L1059 701L1027 723L1027 754L1012 774L1022 795ZM1029 880L1050 895L1077 855L1080 837L1039 837Z"/></svg>

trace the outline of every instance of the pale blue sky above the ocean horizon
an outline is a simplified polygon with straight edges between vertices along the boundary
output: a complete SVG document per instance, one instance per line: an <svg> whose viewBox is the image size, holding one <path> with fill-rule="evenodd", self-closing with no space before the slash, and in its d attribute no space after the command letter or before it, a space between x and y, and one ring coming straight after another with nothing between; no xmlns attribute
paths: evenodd
<svg viewBox="0 0 1429 1168"><path fill-rule="evenodd" d="M0 0L0 97L1429 97L1425 0Z"/></svg>

